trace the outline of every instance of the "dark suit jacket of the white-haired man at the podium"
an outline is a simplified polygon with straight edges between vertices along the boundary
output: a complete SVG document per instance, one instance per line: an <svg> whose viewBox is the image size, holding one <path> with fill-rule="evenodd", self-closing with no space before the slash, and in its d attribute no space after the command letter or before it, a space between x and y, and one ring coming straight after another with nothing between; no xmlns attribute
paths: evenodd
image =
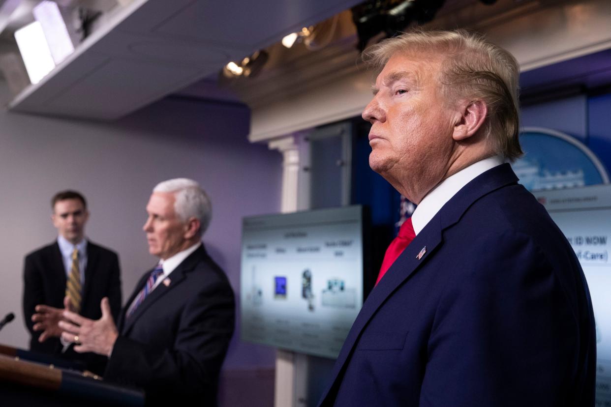
<svg viewBox="0 0 611 407"><path fill-rule="evenodd" d="M227 276L202 245L125 319L149 273L121 313L104 380L144 387L147 405L216 405L235 317Z"/></svg>

